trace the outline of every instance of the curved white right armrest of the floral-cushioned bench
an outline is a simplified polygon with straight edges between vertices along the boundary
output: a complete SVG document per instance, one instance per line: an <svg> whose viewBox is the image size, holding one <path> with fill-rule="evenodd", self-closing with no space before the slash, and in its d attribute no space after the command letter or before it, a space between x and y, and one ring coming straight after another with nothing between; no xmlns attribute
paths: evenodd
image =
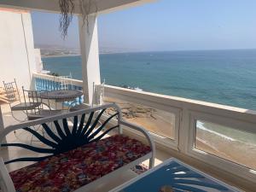
<svg viewBox="0 0 256 192"><path fill-rule="evenodd" d="M128 126L129 128L133 129L133 130L136 130L136 131L140 131L141 133L143 133L143 135L147 138L148 140L148 143L150 145L150 148L152 150L152 155L153 155L153 158L154 158L154 154L155 154L155 145L154 145L154 141L152 140L152 138L150 137L150 135L148 134L148 131L146 131L143 127L141 126L138 126L138 125L135 125L135 124L131 124L127 121L124 121L124 120L120 120L119 121L119 124L120 125L125 125L125 126Z"/></svg>

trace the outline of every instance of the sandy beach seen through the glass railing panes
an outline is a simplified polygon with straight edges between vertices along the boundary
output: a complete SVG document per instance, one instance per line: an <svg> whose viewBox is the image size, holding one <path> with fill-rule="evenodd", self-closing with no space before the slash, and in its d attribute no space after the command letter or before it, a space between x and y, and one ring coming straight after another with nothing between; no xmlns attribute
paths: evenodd
<svg viewBox="0 0 256 192"><path fill-rule="evenodd" d="M106 98L105 102L117 103L125 120L141 125L160 136L174 139L174 114L113 98ZM232 141L198 128L195 148L256 170L256 146L253 144Z"/></svg>

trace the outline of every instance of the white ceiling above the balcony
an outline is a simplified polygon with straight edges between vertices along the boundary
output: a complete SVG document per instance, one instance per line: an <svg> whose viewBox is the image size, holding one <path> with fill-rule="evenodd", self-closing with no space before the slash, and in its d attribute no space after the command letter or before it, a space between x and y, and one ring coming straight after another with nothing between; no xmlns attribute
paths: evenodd
<svg viewBox="0 0 256 192"><path fill-rule="evenodd" d="M79 14L79 0L75 1L75 14ZM96 0L96 5L98 13L102 13L154 1L156 0ZM60 12L59 0L0 0L0 7Z"/></svg>

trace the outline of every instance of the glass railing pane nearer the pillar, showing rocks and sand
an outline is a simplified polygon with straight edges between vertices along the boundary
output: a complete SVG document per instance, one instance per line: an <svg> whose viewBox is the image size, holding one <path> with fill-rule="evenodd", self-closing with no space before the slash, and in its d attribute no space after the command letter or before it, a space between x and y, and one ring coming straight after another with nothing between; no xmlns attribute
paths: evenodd
<svg viewBox="0 0 256 192"><path fill-rule="evenodd" d="M175 138L175 114L110 97L105 97L104 102L117 103L125 120L162 137Z"/></svg>

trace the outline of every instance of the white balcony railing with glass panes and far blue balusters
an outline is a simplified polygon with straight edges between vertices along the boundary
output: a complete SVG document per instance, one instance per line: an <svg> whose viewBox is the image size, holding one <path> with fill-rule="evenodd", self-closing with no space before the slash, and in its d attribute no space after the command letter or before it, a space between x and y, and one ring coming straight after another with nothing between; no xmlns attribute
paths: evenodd
<svg viewBox="0 0 256 192"><path fill-rule="evenodd" d="M46 90L58 80L34 74L34 82ZM82 89L82 81L72 84ZM105 101L121 105L124 118L151 131L161 147L255 183L256 112L110 85L104 90Z"/></svg>

